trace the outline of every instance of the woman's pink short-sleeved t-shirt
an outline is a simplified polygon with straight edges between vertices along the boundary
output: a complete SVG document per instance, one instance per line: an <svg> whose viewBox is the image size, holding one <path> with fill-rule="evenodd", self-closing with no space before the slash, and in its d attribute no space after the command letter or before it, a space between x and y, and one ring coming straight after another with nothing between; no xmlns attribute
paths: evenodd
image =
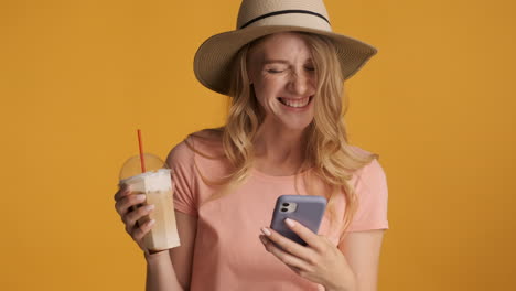
<svg viewBox="0 0 516 291"><path fill-rule="evenodd" d="M203 176L215 181L229 173L229 166L224 159L213 159L224 155L217 133L204 130L190 136L187 142L195 151L183 141L172 150L170 159L175 182L174 207L197 216L190 290L324 290L267 252L258 238L260 228L270 225L280 195L308 195L303 183L294 176L271 176L252 170L244 184L204 204L221 187L206 184ZM387 184L379 163L374 160L356 171L352 184L359 207L347 231L388 228ZM343 195L338 196L335 207L338 217L343 217L345 202ZM327 212L319 235L326 236L335 246L340 241L342 234L329 227Z"/></svg>

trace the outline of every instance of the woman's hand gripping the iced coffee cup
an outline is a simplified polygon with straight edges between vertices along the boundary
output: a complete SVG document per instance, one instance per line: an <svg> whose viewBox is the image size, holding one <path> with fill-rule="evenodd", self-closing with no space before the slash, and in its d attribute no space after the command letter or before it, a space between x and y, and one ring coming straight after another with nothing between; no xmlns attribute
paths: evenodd
<svg viewBox="0 0 516 291"><path fill-rule="evenodd" d="M143 245L143 237L154 225L154 219L150 219L143 225L137 223L141 217L149 215L154 209L154 205L152 204L137 207L137 205L143 204L144 201L144 194L131 193L130 186L127 184L122 184L115 194L115 209L126 225L126 231L138 244L140 249L149 254L149 250Z"/></svg>

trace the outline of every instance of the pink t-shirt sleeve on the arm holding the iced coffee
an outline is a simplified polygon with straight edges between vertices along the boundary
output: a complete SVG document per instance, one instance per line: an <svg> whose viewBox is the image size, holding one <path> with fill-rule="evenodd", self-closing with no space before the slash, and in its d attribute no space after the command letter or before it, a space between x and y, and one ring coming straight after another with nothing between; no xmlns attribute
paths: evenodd
<svg viewBox="0 0 516 291"><path fill-rule="evenodd" d="M197 215L197 197L194 188L194 152L186 140L175 146L166 158L174 182L174 208L179 212Z"/></svg>

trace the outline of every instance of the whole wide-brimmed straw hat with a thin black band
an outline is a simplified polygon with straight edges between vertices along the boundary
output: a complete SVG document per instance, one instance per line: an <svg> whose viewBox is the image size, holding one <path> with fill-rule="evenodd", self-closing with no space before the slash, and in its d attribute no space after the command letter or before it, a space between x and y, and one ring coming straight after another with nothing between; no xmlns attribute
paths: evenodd
<svg viewBox="0 0 516 291"><path fill-rule="evenodd" d="M332 39L344 79L377 52L367 43L332 32L322 0L243 0L236 30L213 35L198 47L195 76L208 89L227 95L229 66L238 50L264 35L284 31L311 32Z"/></svg>

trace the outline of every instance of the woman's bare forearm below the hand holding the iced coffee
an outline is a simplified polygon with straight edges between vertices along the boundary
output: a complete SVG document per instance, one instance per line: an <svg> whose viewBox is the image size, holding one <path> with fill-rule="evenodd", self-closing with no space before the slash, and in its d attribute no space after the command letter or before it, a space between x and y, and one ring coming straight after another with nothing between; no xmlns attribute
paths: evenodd
<svg viewBox="0 0 516 291"><path fill-rule="evenodd" d="M169 251L146 255L147 291L184 291L170 259Z"/></svg>

